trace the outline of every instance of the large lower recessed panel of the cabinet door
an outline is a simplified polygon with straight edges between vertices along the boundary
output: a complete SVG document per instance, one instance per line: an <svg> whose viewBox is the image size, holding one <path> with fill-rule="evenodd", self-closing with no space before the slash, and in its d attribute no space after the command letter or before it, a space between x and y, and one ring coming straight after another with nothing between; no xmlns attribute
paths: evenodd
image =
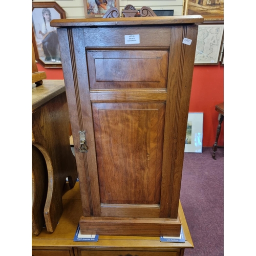
<svg viewBox="0 0 256 256"><path fill-rule="evenodd" d="M160 204L164 103L93 103L102 204Z"/></svg>

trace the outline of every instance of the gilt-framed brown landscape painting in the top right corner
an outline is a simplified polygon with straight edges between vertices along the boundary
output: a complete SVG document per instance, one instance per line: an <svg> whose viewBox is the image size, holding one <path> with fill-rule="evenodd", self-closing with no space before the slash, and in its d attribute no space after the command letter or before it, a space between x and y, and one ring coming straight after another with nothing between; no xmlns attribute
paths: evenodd
<svg viewBox="0 0 256 256"><path fill-rule="evenodd" d="M224 0L184 0L183 15L201 15L204 20L224 20Z"/></svg>

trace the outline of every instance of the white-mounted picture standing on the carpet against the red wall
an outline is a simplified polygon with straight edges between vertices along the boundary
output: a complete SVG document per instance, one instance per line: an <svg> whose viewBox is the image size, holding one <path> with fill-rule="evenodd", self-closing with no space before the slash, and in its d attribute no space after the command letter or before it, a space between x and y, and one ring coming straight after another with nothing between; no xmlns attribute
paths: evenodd
<svg viewBox="0 0 256 256"><path fill-rule="evenodd" d="M202 153L203 113L188 113L185 153Z"/></svg>

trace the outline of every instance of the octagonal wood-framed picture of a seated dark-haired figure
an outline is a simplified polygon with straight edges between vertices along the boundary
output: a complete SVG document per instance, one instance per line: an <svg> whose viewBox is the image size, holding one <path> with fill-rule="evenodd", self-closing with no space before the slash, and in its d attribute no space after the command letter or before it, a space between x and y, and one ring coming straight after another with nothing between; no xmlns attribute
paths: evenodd
<svg viewBox="0 0 256 256"><path fill-rule="evenodd" d="M36 61L45 68L61 68L57 31L50 26L60 18L66 13L56 2L32 2L32 44Z"/></svg>

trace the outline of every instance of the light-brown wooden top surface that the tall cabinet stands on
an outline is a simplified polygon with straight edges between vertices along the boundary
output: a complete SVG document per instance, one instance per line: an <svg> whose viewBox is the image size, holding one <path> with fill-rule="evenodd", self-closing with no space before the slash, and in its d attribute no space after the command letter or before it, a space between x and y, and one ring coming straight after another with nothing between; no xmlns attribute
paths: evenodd
<svg viewBox="0 0 256 256"><path fill-rule="evenodd" d="M66 184L66 187L66 193L63 195L63 214L59 220L59 224L53 233L49 233L44 228L39 236L32 234L32 249L49 250L52 248L55 250L68 250L69 248L78 248L79 250L86 250L91 255L90 252L94 250L97 250L98 253L102 250L111 251L112 253L116 250L122 250L123 253L125 251L129 253L132 250L169 252L178 248L194 247L181 204L179 204L179 216L185 234L185 243L163 243L160 242L159 237L149 236L103 235L99 236L99 240L96 243L74 242L75 231L82 212L81 195L78 182L73 189L70 189L68 184Z"/></svg>

